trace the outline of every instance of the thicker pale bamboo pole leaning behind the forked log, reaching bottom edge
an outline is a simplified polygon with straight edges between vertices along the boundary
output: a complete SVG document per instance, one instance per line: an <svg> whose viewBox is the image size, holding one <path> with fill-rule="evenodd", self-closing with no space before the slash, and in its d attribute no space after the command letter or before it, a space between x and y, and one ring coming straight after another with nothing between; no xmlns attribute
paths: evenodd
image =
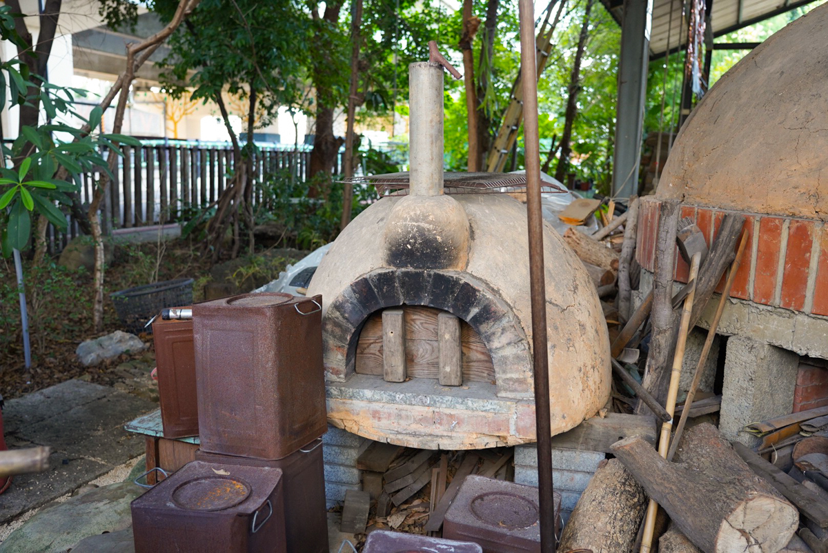
<svg viewBox="0 0 828 553"><path fill-rule="evenodd" d="M699 264L701 262L701 252L693 254L690 264L690 281L696 281L699 276ZM670 375L670 389L667 391L667 413L672 417L676 412L676 397L678 396L678 384L681 379L681 364L684 362L684 350L687 345L687 332L690 330L690 316L693 313L693 300L696 296L696 286L691 288L690 293L684 301L684 310L681 311L681 324L678 331L678 343L676 344L676 354L673 356L672 373ZM689 411L689 409L687 410ZM672 418L670 421L662 423L662 435L658 440L658 454L662 458L667 459L667 449L670 446L670 431L672 430ZM658 504L654 499L650 499L650 504L647 506L647 517L644 519L644 533L641 539L641 553L647 553L652 546L652 534L656 527L656 514L658 512Z"/></svg>

